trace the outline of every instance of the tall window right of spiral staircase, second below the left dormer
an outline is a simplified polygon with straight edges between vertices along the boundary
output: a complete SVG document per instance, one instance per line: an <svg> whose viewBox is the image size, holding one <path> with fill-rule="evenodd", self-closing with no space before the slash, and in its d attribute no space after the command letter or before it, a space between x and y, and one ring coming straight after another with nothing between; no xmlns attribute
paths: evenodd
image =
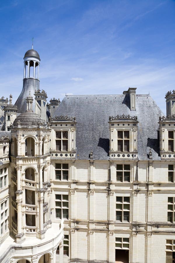
<svg viewBox="0 0 175 263"><path fill-rule="evenodd" d="M56 218L69 219L69 195L55 195Z"/></svg>

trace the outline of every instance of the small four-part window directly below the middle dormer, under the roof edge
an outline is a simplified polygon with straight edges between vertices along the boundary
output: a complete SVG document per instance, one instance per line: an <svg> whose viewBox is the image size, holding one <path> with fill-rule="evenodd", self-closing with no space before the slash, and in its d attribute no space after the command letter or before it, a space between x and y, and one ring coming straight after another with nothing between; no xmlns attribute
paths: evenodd
<svg viewBox="0 0 175 263"><path fill-rule="evenodd" d="M130 182L130 165L117 164L117 181Z"/></svg>

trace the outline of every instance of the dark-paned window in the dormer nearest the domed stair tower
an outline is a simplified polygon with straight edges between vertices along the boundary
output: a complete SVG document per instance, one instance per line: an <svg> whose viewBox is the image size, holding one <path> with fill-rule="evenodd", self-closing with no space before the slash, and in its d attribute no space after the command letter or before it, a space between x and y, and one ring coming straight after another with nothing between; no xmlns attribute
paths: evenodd
<svg viewBox="0 0 175 263"><path fill-rule="evenodd" d="M68 151L68 131L56 131L56 151Z"/></svg>

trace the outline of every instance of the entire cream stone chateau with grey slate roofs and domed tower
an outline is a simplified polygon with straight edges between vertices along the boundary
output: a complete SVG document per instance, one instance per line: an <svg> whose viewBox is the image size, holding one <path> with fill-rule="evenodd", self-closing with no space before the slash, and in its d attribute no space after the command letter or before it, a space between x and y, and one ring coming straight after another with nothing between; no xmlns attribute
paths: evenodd
<svg viewBox="0 0 175 263"><path fill-rule="evenodd" d="M47 103L39 67L0 99L0 262L173 262L175 91Z"/></svg>

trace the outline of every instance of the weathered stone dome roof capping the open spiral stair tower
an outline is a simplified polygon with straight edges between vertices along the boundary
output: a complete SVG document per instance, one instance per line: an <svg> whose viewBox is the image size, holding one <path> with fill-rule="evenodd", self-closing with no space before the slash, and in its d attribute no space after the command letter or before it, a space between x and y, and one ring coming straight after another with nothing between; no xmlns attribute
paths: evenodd
<svg viewBox="0 0 175 263"><path fill-rule="evenodd" d="M26 111L25 113L20 114L13 122L13 127L20 126L45 126L44 120L41 119L41 117L32 112L32 111Z"/></svg>

